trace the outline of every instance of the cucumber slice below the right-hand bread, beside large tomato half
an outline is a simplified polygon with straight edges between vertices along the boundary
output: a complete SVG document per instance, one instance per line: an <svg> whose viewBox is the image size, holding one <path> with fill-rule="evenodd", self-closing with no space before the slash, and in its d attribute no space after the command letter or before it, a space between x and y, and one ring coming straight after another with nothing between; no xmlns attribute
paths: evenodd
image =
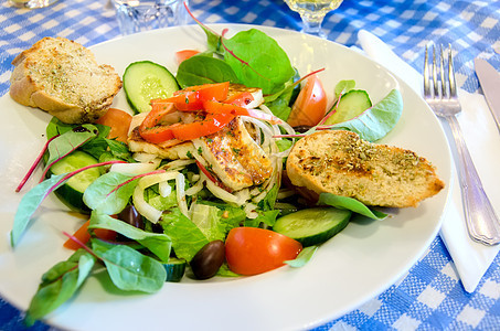
<svg viewBox="0 0 500 331"><path fill-rule="evenodd" d="M319 245L342 231L351 214L349 210L333 207L307 209L278 218L273 229L300 242L304 247Z"/></svg>

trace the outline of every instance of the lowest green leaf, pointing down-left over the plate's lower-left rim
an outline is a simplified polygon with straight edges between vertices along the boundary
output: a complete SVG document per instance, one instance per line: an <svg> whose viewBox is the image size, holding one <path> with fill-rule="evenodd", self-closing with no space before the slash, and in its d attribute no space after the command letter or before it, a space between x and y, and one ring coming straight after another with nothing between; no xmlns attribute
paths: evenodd
<svg viewBox="0 0 500 331"><path fill-rule="evenodd" d="M96 258L85 249L76 250L66 261L53 266L42 276L42 282L28 308L29 325L71 299L91 275Z"/></svg>

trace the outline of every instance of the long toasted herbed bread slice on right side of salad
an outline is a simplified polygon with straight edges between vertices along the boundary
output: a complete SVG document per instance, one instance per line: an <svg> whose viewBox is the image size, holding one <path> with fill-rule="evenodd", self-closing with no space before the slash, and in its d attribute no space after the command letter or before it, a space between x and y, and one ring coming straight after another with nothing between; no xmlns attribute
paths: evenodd
<svg viewBox="0 0 500 331"><path fill-rule="evenodd" d="M445 186L435 168L413 151L371 143L344 130L298 140L286 170L296 186L387 207L417 206Z"/></svg>

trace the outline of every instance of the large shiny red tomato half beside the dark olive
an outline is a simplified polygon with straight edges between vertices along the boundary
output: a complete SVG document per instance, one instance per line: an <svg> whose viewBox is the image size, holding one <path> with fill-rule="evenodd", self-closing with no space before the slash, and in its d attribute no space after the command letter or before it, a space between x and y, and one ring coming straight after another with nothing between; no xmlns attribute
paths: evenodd
<svg viewBox="0 0 500 331"><path fill-rule="evenodd" d="M257 275L276 269L294 259L302 245L270 229L235 227L225 241L225 257L230 269L240 275Z"/></svg>

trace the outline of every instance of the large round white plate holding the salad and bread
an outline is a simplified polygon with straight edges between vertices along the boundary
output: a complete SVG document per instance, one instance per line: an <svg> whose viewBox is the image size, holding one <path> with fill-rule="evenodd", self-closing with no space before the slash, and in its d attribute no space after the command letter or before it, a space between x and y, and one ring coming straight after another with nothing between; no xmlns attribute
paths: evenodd
<svg viewBox="0 0 500 331"><path fill-rule="evenodd" d="M252 26L213 28L219 32L228 28L232 34ZM325 67L320 75L329 93L340 79L355 79L376 103L398 87L404 113L383 142L427 158L449 183L450 158L442 128L423 99L404 83L368 57L336 43L292 31L254 28L275 38L302 75ZM140 60L164 64L175 72L174 52L204 50L205 35L192 25L130 35L92 49L100 63L111 64L118 73ZM128 108L123 94L116 106ZM15 104L8 95L0 99L0 109L9 122L0 131L0 292L25 310L41 275L70 254L62 248L62 231L72 233L83 220L76 220L51 196L35 213L19 246L14 250L9 246L13 214L22 195L15 194L14 188L43 146L50 117ZM29 186L34 182L32 179ZM436 236L447 195L445 189L417 209L394 211L382 222L354 221L299 269L283 267L247 278L166 284L157 295L123 296L106 288L105 277L91 278L47 322L73 330L312 328L355 309L404 276Z"/></svg>

